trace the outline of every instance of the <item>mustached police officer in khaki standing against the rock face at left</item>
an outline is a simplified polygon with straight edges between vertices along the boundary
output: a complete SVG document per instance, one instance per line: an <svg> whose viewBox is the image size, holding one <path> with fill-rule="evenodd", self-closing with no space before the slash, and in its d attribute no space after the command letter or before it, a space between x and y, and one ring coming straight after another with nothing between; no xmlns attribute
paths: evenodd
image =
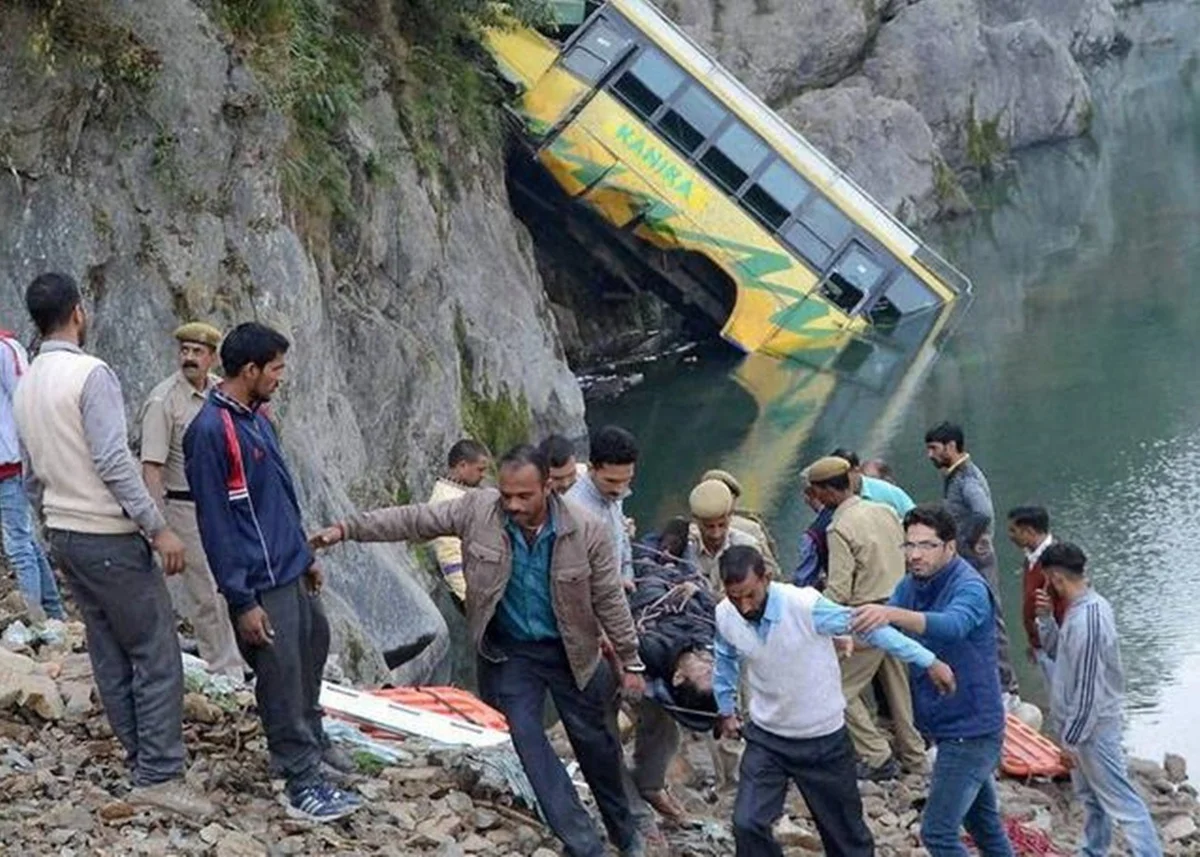
<svg viewBox="0 0 1200 857"><path fill-rule="evenodd" d="M184 474L184 432L220 380L212 374L221 331L202 322L175 331L179 371L154 390L142 409L142 473L167 525L187 549L187 568L172 579L175 611L192 623L200 657L214 673L242 678L245 661L238 652L229 609L217 592L204 558L196 526L196 505Z"/></svg>

